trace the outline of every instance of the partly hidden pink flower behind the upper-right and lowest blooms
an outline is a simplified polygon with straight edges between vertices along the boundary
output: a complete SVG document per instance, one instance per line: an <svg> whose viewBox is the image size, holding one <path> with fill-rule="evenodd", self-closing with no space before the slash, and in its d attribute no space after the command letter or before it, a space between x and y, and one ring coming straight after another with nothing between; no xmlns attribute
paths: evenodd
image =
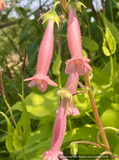
<svg viewBox="0 0 119 160"><path fill-rule="evenodd" d="M70 74L69 79L66 84L66 88L68 88L74 82L78 82L78 79L79 79L78 73ZM71 94L74 94L76 92L76 89L77 89L77 84L74 84L69 90L70 90ZM68 114L70 114L72 116L76 116L76 115L79 115L80 113L77 108L73 107L73 100L74 100L74 97L72 99L72 102L68 104Z"/></svg>

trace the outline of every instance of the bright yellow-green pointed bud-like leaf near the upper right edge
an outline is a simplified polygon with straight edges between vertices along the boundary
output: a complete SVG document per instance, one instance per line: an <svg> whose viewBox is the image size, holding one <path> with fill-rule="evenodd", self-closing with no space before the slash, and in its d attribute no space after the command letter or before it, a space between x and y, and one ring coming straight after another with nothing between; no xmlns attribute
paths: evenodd
<svg viewBox="0 0 119 160"><path fill-rule="evenodd" d="M115 39L107 26L105 36L103 37L102 49L106 56L110 56L110 54L114 54L116 51Z"/></svg>

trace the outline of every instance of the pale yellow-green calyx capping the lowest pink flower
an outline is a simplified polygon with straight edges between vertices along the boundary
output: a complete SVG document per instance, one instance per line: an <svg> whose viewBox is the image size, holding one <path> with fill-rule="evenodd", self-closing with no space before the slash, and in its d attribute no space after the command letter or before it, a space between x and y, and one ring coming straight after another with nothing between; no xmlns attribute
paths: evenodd
<svg viewBox="0 0 119 160"><path fill-rule="evenodd" d="M72 94L70 90L67 88L62 88L59 91L57 91L57 95L60 96L62 100L65 98L70 103L72 102Z"/></svg>

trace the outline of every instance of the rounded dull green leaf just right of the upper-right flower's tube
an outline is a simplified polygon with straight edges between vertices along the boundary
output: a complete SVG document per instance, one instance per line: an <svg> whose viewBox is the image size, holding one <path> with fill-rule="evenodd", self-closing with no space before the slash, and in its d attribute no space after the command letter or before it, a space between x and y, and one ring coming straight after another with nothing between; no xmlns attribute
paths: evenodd
<svg viewBox="0 0 119 160"><path fill-rule="evenodd" d="M81 38L83 47L87 48L89 51L94 52L99 49L99 45L94 40L84 36Z"/></svg>

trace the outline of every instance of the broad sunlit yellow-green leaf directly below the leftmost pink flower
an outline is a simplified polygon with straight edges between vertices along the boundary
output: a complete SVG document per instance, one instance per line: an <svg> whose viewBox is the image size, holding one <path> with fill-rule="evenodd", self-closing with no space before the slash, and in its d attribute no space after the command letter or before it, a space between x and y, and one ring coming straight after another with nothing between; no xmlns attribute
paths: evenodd
<svg viewBox="0 0 119 160"><path fill-rule="evenodd" d="M52 115L59 106L59 97L55 96L57 90L53 89L44 94L32 92L25 98L27 111L37 118ZM20 102L16 103L12 109L21 110Z"/></svg>

